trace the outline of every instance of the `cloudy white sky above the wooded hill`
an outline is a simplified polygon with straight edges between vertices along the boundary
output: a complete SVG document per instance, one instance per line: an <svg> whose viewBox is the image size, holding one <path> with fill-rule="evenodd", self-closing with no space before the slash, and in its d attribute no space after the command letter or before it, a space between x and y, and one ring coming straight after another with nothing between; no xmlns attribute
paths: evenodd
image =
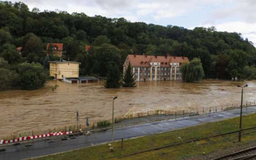
<svg viewBox="0 0 256 160"><path fill-rule="evenodd" d="M14 2L15 0L11 0ZM188 29L216 26L238 32L256 45L256 0L19 0L43 10L124 17L131 22L177 25Z"/></svg>

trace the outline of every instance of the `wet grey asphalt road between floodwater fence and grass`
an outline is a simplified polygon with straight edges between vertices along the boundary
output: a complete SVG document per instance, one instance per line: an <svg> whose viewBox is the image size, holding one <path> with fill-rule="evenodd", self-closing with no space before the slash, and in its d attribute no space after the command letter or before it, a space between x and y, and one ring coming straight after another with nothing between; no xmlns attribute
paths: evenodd
<svg viewBox="0 0 256 160"><path fill-rule="evenodd" d="M248 107L247 112L255 113L256 107ZM221 121L223 119L236 116L240 116L240 109L211 113L211 116L209 116L208 114L204 114L185 118L178 118L176 120L171 119L166 121L120 127L115 128L115 140L120 140L121 138L128 139L131 137L146 136L165 131L172 131L183 127L199 125L202 123ZM9 145L5 147L5 151L0 152L0 160L22 160L25 158L49 155L68 150L75 150L108 141L111 141L111 130L92 134L90 136L79 136L75 139L70 139L67 141L55 140L53 143L48 143L47 141L38 141L35 143L32 142L32 145L29 147L26 147L26 144L16 146Z"/></svg>

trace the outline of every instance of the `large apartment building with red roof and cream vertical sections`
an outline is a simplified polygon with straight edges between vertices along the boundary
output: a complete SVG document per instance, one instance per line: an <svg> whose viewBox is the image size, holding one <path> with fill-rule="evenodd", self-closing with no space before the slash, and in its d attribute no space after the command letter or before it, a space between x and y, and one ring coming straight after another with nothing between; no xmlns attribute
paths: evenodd
<svg viewBox="0 0 256 160"><path fill-rule="evenodd" d="M180 67L189 62L187 57L128 55L124 63L124 73L131 64L136 81L165 81L181 79Z"/></svg>

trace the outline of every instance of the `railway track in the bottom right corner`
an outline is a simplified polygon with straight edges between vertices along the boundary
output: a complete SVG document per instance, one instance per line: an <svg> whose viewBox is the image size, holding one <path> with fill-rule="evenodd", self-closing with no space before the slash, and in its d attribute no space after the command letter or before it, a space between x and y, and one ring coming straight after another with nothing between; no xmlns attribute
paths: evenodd
<svg viewBox="0 0 256 160"><path fill-rule="evenodd" d="M223 155L212 160L256 160L256 146Z"/></svg>

